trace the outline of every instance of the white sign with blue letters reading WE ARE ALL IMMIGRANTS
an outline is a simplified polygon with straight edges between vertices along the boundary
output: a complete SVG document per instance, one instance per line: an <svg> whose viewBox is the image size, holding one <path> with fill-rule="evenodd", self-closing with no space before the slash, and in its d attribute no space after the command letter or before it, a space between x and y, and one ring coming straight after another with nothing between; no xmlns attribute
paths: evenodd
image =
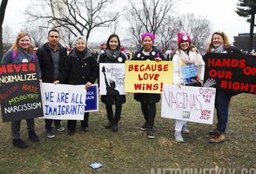
<svg viewBox="0 0 256 174"><path fill-rule="evenodd" d="M45 119L83 120L85 85L42 83L41 95Z"/></svg>

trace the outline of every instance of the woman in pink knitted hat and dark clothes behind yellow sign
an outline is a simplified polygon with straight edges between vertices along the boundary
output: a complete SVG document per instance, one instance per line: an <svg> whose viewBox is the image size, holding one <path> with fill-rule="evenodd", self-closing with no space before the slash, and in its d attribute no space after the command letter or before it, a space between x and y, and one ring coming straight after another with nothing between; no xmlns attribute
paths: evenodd
<svg viewBox="0 0 256 174"><path fill-rule="evenodd" d="M152 33L144 33L141 35L142 48L138 50L132 60L139 61L161 61L165 57L156 47L153 46L155 36ZM156 103L160 100L160 94L150 93L135 93L134 98L140 102L141 110L145 118L145 124L140 127L140 130L146 131L148 138L155 138L153 132L153 124L156 117Z"/></svg>

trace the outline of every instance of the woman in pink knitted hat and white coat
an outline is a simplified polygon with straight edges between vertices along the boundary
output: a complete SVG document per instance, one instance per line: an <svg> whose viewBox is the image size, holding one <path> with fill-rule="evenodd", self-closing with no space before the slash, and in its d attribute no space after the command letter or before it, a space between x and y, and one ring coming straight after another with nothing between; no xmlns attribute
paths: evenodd
<svg viewBox="0 0 256 174"><path fill-rule="evenodd" d="M204 79L205 62L199 53L199 50L192 45L191 37L187 33L178 33L178 46L175 50L173 62L173 84L187 85L187 86L200 86ZM192 76L184 76L184 68L189 68L195 71L196 74ZM188 134L186 128L186 121L176 120L175 122L175 141L184 142L182 133Z"/></svg>

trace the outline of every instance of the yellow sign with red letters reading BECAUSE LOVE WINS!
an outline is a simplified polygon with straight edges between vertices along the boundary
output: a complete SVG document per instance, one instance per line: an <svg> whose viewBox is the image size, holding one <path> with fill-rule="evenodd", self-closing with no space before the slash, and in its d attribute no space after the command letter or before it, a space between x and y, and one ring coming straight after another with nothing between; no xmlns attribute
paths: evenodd
<svg viewBox="0 0 256 174"><path fill-rule="evenodd" d="M125 92L160 94L172 73L170 61L125 61Z"/></svg>

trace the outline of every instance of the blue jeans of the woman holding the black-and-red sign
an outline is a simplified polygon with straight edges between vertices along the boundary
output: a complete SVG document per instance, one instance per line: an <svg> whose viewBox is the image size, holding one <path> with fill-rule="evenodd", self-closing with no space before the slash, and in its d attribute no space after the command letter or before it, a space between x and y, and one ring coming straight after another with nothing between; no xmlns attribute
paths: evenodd
<svg viewBox="0 0 256 174"><path fill-rule="evenodd" d="M231 100L231 93L226 90L216 90L215 108L217 110L217 130L225 132L228 121L228 107Z"/></svg>

